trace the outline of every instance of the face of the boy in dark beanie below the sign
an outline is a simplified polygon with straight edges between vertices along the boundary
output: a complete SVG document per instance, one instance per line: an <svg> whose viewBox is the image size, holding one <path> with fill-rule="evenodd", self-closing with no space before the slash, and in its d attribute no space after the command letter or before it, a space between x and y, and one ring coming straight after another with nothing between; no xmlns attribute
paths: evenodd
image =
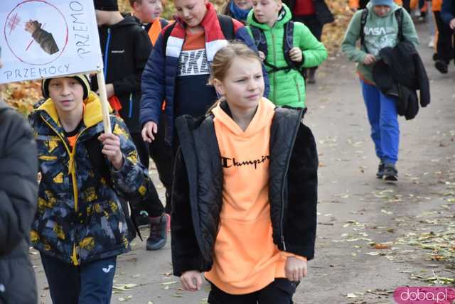
<svg viewBox="0 0 455 304"><path fill-rule="evenodd" d="M57 112L69 113L82 107L84 89L74 78L54 78L49 82L49 96L52 98Z"/></svg>

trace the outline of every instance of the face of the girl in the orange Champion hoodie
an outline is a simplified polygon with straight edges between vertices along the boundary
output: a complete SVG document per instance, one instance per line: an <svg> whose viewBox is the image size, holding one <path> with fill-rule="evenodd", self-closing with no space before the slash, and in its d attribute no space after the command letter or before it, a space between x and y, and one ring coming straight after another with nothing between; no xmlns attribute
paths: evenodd
<svg viewBox="0 0 455 304"><path fill-rule="evenodd" d="M264 94L264 78L259 60L237 57L232 61L223 80L214 80L213 85L228 101L229 107L247 110L257 107Z"/></svg>

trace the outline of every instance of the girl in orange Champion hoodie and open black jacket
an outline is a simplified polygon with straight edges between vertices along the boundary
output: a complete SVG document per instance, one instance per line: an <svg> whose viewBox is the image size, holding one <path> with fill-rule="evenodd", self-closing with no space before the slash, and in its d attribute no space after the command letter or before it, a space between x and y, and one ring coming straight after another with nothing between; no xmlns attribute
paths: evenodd
<svg viewBox="0 0 455 304"><path fill-rule="evenodd" d="M262 97L257 55L230 43L210 82L222 98L200 119L176 121L173 273L208 303L292 303L314 257L318 156L304 109Z"/></svg>

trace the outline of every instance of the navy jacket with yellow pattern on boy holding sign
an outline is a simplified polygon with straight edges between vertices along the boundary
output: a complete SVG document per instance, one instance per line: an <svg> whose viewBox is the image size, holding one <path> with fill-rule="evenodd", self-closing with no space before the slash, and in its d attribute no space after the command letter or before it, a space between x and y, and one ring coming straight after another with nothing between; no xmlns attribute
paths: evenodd
<svg viewBox="0 0 455 304"><path fill-rule="evenodd" d="M52 99L31 114L41 171L31 241L43 254L73 265L129 251L127 223L117 193L146 195L149 179L122 119L110 116L124 164L111 166L114 189L94 168L85 143L103 131L100 99L85 99L82 131L70 148Z"/></svg>

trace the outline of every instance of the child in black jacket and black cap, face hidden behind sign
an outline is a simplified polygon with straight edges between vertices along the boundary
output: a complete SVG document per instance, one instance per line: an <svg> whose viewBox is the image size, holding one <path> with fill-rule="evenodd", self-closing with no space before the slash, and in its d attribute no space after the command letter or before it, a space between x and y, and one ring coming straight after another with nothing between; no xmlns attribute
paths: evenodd
<svg viewBox="0 0 455 304"><path fill-rule="evenodd" d="M136 145L141 163L149 168L149 147L141 138L139 109L141 103L141 75L151 52L151 41L147 33L133 16L122 16L117 0L95 0L95 13L100 33L104 59L107 98L111 107L122 116ZM92 81L92 88L97 85ZM161 100L162 102L162 100ZM164 207L159 197L146 197L133 202L137 210L145 210L156 229L151 229L149 249L160 249L166 244L166 222ZM152 227L151 227L152 228Z"/></svg>

